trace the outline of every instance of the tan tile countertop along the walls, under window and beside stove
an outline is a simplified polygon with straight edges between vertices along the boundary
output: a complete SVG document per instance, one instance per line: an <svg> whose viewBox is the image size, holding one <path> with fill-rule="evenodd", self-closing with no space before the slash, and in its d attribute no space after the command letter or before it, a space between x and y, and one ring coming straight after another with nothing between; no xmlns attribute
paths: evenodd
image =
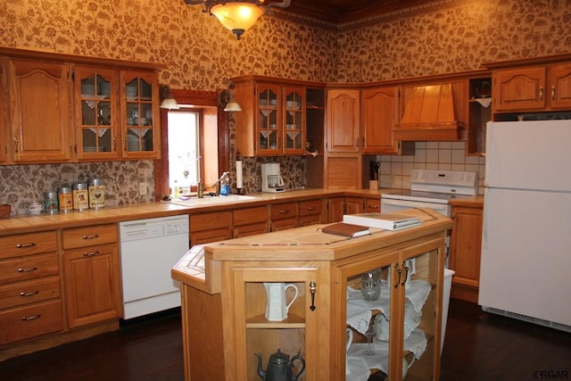
<svg viewBox="0 0 571 381"><path fill-rule="evenodd" d="M369 189L302 189L294 190L279 194L255 193L244 197L244 200L232 200L230 203L197 203L186 202L170 203L137 203L120 207L105 207L100 210L87 211L71 211L68 213L39 215L19 215L0 219L0 236L9 234L20 234L36 232L41 230L50 230L54 228L79 228L104 223L116 223L132 219L151 219L155 217L174 216L178 214L189 214L204 211L222 211L228 207L236 208L240 206L256 206L268 203L280 203L287 201L303 201L316 197L335 197L335 196L378 196L383 193L390 193L400 189L381 188L378 190ZM219 196L223 198L224 196ZM482 196L476 196L474 199L465 199L461 202L456 201L455 204L467 203L477 205L483 203Z"/></svg>

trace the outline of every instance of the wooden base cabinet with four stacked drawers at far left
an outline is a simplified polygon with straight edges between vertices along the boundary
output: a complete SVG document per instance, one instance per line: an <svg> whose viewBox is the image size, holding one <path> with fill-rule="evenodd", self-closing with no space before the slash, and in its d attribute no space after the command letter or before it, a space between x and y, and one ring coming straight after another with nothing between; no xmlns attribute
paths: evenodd
<svg viewBox="0 0 571 381"><path fill-rule="evenodd" d="M55 231L0 237L0 345L61 331L62 311Z"/></svg>

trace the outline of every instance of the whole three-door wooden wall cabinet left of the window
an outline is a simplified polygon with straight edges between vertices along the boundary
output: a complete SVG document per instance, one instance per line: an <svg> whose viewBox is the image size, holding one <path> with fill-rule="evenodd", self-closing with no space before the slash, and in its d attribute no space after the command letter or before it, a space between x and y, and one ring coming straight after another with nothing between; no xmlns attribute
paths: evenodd
<svg viewBox="0 0 571 381"><path fill-rule="evenodd" d="M0 47L0 65L0 163L160 158L161 64Z"/></svg>

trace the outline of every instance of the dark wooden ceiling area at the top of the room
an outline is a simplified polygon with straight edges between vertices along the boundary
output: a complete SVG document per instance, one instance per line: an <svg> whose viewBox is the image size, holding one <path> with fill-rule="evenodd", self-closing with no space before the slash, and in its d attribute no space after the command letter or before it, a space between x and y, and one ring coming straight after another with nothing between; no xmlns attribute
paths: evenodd
<svg viewBox="0 0 571 381"><path fill-rule="evenodd" d="M283 11L335 24L359 21L370 16L434 3L436 0L291 0ZM271 3L279 3L272 1Z"/></svg>

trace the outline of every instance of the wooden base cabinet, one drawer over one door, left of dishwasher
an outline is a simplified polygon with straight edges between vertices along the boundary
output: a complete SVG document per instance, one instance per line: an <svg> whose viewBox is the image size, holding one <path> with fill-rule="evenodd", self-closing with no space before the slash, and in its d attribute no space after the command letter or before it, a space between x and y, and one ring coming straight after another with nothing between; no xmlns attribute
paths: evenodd
<svg viewBox="0 0 571 381"><path fill-rule="evenodd" d="M68 326L120 318L117 226L64 229L62 243Z"/></svg>

